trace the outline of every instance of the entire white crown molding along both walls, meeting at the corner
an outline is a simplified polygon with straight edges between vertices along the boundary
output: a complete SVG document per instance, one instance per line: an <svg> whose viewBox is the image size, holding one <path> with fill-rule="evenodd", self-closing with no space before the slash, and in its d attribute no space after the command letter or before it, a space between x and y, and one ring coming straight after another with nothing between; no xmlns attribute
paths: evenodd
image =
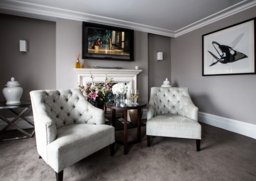
<svg viewBox="0 0 256 181"><path fill-rule="evenodd" d="M234 6L231 6L225 10L217 12L211 16L208 16L196 23L188 25L177 31L170 31L167 29L160 29L157 27L151 27L138 23L132 23L129 21L122 21L118 19L111 19L104 16L96 16L83 12L76 12L61 8L54 8L50 6L42 6L39 4L21 2L19 0L2 0L0 2L0 12L6 14L13 14L17 16L25 16L29 18L42 19L47 21L56 21L57 18L70 19L75 21L87 21L90 23L99 23L110 26L123 27L127 29L134 29L137 31L143 31L147 33L153 33L156 35L163 35L167 37L178 37L225 17L231 16L237 12L241 12L248 8L256 6L256 0L244 0Z"/></svg>

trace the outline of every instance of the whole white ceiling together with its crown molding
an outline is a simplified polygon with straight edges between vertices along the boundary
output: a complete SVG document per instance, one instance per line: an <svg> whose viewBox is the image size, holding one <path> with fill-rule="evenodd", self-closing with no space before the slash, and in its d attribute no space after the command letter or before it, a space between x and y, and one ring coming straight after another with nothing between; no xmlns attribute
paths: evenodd
<svg viewBox="0 0 256 181"><path fill-rule="evenodd" d="M0 0L0 13L178 37L253 6L256 0Z"/></svg>

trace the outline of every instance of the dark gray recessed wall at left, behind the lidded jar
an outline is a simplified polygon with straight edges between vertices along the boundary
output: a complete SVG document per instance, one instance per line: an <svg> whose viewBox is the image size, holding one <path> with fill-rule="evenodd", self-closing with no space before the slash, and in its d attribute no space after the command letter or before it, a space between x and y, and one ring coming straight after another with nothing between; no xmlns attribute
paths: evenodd
<svg viewBox="0 0 256 181"><path fill-rule="evenodd" d="M0 27L0 101L11 77L23 88L22 100L30 99L31 90L55 89L55 23L0 14ZM27 41L27 53L19 51L19 40Z"/></svg>

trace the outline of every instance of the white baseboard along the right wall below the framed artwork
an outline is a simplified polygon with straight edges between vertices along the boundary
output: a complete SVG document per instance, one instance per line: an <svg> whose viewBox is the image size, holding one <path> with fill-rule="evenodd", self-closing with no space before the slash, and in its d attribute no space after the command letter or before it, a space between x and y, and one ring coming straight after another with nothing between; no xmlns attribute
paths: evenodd
<svg viewBox="0 0 256 181"><path fill-rule="evenodd" d="M198 112L198 121L256 139L255 124L203 112Z"/></svg>

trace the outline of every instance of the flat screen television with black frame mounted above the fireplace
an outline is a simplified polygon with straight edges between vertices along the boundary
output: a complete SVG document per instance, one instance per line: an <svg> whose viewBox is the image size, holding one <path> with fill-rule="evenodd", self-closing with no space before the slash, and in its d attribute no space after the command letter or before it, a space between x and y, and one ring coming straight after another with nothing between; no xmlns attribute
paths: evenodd
<svg viewBox="0 0 256 181"><path fill-rule="evenodd" d="M134 31L83 22L82 58L134 61Z"/></svg>

